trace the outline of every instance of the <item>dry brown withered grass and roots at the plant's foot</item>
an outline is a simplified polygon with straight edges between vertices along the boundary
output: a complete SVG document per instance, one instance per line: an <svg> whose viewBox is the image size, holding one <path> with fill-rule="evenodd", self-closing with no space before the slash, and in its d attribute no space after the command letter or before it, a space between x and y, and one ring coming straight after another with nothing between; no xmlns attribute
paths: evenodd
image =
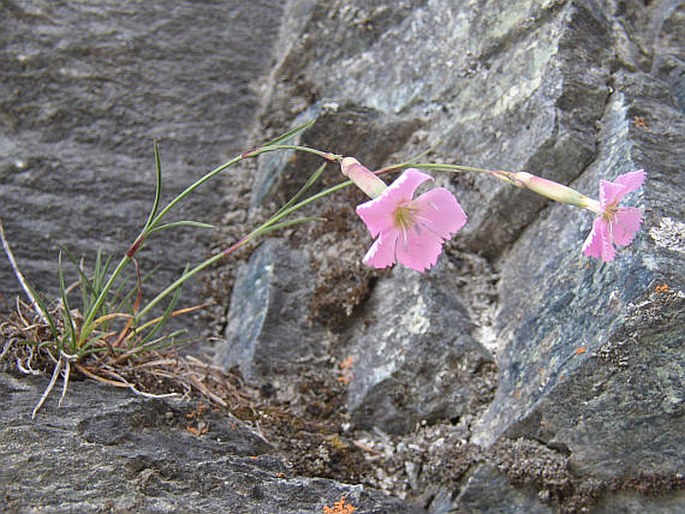
<svg viewBox="0 0 685 514"><path fill-rule="evenodd" d="M197 311L206 304L174 311L174 315ZM59 303L50 315L61 308ZM128 321L130 315L116 313L109 319ZM102 320L102 322L107 320ZM57 326L61 330L60 325ZM0 358L14 359L17 369L25 374L51 377L39 402L33 410L35 418L44 407L47 398L54 391L60 378L63 379L59 404L61 405L70 385L72 373L111 387L129 389L134 394L153 397L190 398L193 394L206 398L222 408L251 406L255 398L238 376L226 373L197 357L180 356L173 349L131 348L123 354L112 351L109 340L120 332L93 332L92 352L78 357L64 350L60 351L53 341L53 333L43 318L28 303L17 300L16 312L0 324L4 340ZM131 341L131 344L134 342ZM125 359L122 359L125 355Z"/></svg>

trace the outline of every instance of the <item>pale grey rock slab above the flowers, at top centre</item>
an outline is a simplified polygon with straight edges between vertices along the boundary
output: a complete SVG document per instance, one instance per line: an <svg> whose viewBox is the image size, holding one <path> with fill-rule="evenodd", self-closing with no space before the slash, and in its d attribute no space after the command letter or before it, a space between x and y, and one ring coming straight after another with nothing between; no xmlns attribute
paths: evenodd
<svg viewBox="0 0 685 514"><path fill-rule="evenodd" d="M336 2L308 16L299 39L291 35L268 109L314 90L424 119L416 150L432 147L448 162L569 182L591 161L611 62L610 24L593 3ZM455 185L470 217L460 246L488 256L545 203L487 177Z"/></svg>

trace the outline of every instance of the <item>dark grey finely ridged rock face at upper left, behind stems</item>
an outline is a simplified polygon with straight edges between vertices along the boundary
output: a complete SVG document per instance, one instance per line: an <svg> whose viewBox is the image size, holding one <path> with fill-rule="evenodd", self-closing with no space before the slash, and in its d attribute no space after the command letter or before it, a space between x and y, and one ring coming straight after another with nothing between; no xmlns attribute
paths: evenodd
<svg viewBox="0 0 685 514"><path fill-rule="evenodd" d="M123 256L152 205L153 140L166 200L246 149L279 16L271 2L0 5L0 218L33 284L55 293L61 246L90 262L98 249ZM216 221L221 187L201 191L169 221ZM200 262L207 240L150 240L149 289ZM6 312L20 289L4 257L0 291ZM199 291L188 285L188 305Z"/></svg>

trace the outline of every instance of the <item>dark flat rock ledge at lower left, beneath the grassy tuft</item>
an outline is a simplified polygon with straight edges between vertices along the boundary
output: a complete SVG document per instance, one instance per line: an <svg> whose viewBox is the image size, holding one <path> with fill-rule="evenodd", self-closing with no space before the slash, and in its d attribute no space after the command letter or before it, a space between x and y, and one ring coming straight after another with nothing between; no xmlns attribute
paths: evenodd
<svg viewBox="0 0 685 514"><path fill-rule="evenodd" d="M47 378L0 373L0 508L5 512L322 512L341 496L361 513L423 509L361 485L290 475L270 445L238 420L188 403L136 398L91 382L31 410Z"/></svg>

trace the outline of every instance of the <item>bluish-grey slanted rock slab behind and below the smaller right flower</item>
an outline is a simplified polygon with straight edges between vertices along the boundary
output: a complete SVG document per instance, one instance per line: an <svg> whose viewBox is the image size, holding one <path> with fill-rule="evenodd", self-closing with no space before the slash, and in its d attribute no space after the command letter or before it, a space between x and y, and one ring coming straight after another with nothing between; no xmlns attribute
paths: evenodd
<svg viewBox="0 0 685 514"><path fill-rule="evenodd" d="M643 230L610 265L579 263L591 217L564 206L517 241L501 262L501 382L473 439L543 441L568 453L576 477L666 494L685 473L685 120L667 84L614 80L600 152L576 185L591 192L600 178L646 168L632 200L646 208ZM643 113L647 126L634 119ZM632 501L636 512L651 505Z"/></svg>

